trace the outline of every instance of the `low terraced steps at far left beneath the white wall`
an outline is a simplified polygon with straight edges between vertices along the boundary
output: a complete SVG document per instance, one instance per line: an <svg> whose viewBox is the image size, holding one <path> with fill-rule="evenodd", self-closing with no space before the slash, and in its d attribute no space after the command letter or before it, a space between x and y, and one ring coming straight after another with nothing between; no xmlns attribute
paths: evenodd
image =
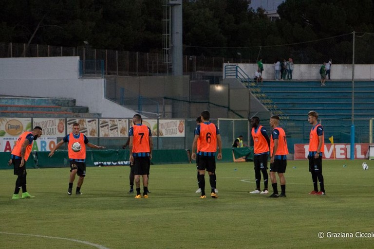
<svg viewBox="0 0 374 249"><path fill-rule="evenodd" d="M1 117L99 118L88 107L75 106L75 99L0 96Z"/></svg>

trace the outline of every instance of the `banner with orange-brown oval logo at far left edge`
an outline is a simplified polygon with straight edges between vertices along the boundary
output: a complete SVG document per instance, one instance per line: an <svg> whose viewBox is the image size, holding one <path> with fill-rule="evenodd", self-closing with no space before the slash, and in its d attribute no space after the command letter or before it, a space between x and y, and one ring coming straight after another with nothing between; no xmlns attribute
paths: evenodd
<svg viewBox="0 0 374 249"><path fill-rule="evenodd" d="M31 118L0 118L0 137L18 137L31 131Z"/></svg>

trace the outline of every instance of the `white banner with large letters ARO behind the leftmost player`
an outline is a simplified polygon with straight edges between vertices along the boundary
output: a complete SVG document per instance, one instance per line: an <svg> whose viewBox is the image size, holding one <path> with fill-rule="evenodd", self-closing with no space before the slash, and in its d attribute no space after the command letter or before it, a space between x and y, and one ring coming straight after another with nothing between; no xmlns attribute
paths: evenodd
<svg viewBox="0 0 374 249"><path fill-rule="evenodd" d="M12 152L18 137L0 138L0 152ZM32 151L51 151L56 147L56 137L41 137L34 141Z"/></svg>

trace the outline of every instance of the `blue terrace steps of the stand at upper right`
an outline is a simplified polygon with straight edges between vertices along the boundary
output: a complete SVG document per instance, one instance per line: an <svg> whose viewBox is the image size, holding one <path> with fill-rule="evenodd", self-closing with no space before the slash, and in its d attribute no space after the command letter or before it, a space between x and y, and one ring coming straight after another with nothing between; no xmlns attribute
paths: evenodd
<svg viewBox="0 0 374 249"><path fill-rule="evenodd" d="M305 120L314 109L324 120L349 120L352 117L352 82L266 81L259 87L281 108L288 120ZM374 82L355 82L355 119L374 117Z"/></svg>

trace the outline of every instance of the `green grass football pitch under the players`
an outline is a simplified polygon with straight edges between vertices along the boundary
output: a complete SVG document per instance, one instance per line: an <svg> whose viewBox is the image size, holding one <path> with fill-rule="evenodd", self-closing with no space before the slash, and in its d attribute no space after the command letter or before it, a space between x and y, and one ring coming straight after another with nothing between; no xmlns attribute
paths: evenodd
<svg viewBox="0 0 374 249"><path fill-rule="evenodd" d="M28 169L36 198L19 200L13 170L1 170L0 248L373 248L355 237L374 232L374 163L362 162L324 160L326 195L310 196L307 161L289 160L286 198L248 193L252 162L217 164L218 199L195 193L195 164L152 165L148 199L127 194L129 167L89 167L82 196L66 194L68 168Z"/></svg>

